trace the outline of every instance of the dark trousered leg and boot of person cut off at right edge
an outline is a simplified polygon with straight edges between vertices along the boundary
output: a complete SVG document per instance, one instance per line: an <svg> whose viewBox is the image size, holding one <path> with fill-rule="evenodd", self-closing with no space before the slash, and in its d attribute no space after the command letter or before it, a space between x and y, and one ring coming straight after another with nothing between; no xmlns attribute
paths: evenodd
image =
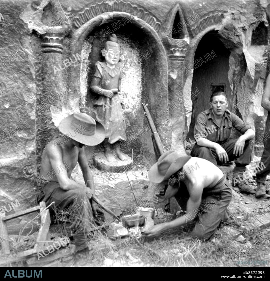
<svg viewBox="0 0 270 281"><path fill-rule="evenodd" d="M266 124L265 124L265 133L270 134L270 112L268 111ZM269 191L269 187L266 186L266 176L270 173L270 138L264 140L264 151L262 153L262 158L260 163L263 163L265 168L256 173L257 181L257 190L255 196L257 198L264 197L266 191ZM261 165L260 165L261 166Z"/></svg>

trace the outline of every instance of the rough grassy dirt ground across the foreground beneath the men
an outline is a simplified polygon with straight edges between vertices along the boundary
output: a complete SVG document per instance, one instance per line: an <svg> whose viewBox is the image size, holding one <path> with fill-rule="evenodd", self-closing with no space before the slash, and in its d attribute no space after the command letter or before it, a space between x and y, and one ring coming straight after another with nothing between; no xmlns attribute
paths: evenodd
<svg viewBox="0 0 270 281"><path fill-rule="evenodd" d="M138 173L145 173L139 169ZM97 173L100 173L97 172ZM255 185L255 180L250 179ZM267 181L270 184L270 181ZM133 206L131 206L133 207ZM170 214L162 208L156 209L155 223L170 221L180 216ZM232 201L228 207L229 219L222 222L212 241L201 242L191 239L188 232L192 225L163 232L152 240L124 237L109 239L104 229L91 233L89 257L74 257L74 241L39 260L36 256L12 262L16 253L27 250L35 244L36 232L31 235L9 235L12 254L0 256L0 266L97 266L97 267L268 267L270 262L270 200L256 199L233 189ZM107 225L114 219L107 215ZM38 223L37 223L38 224ZM66 233L63 226L51 225L51 239L56 241ZM120 250L113 246L121 245ZM243 261L243 264L237 264ZM250 261L250 264L244 264ZM251 263L252 261L252 263ZM256 263L254 262L256 261ZM260 261L259 264L257 261ZM261 262L263 261L263 262ZM247 262L246 262L247 263ZM262 263L262 264L261 264Z"/></svg>

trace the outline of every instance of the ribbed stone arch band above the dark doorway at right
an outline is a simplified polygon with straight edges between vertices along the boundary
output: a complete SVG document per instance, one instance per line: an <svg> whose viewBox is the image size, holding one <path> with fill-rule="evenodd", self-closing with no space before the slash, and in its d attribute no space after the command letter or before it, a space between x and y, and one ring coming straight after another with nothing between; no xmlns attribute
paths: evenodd
<svg viewBox="0 0 270 281"><path fill-rule="evenodd" d="M224 12L212 12L210 15L205 15L196 26L191 26L191 34L195 37L197 34L205 30L208 26L221 23L222 19L224 19Z"/></svg>

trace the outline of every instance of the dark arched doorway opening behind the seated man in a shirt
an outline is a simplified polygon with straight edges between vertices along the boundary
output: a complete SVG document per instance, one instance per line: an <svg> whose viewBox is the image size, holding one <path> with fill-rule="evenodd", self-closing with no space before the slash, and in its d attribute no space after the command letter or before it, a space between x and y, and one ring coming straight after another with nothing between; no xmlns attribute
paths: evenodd
<svg viewBox="0 0 270 281"><path fill-rule="evenodd" d="M193 130L198 114L210 108L210 96L216 90L225 91L229 104L231 99L228 80L230 51L219 39L217 31L205 34L194 56L194 71L191 90L198 88L200 94L192 96L192 116L186 140L194 139ZM191 149L187 146L186 149Z"/></svg>

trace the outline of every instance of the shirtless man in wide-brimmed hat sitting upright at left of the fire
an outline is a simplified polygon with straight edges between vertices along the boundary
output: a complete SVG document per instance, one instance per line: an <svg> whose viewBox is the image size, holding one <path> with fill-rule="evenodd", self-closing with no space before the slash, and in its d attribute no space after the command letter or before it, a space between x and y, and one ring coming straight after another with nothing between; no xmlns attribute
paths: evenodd
<svg viewBox="0 0 270 281"><path fill-rule="evenodd" d="M83 146L102 142L105 129L85 113L69 115L60 122L58 128L63 136L51 140L42 154L37 201L45 201L46 206L54 201L56 212L70 207L69 220L75 232L75 250L87 255L87 232L91 230L92 212L95 222L102 222L105 218L91 200L95 187ZM83 172L85 185L70 179L77 162Z"/></svg>

